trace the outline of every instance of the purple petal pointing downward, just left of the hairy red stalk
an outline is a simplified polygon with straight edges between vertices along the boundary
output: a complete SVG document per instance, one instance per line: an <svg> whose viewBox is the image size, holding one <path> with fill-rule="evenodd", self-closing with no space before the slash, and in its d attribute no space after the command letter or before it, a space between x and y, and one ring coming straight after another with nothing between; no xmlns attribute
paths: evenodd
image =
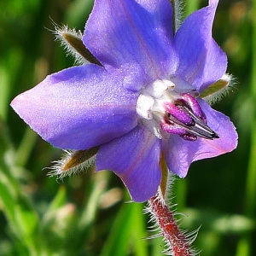
<svg viewBox="0 0 256 256"><path fill-rule="evenodd" d="M160 185L160 140L137 126L123 137L100 147L96 170L115 172L129 189L133 201L147 201Z"/></svg>

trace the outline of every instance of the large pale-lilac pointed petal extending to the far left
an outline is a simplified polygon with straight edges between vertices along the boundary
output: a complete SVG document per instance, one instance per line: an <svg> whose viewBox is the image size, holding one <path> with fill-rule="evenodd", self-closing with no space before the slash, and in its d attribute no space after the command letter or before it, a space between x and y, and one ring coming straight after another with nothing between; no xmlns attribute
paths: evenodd
<svg viewBox="0 0 256 256"><path fill-rule="evenodd" d="M123 87L124 76L93 64L68 68L20 94L11 106L55 147L91 148L137 125L137 95Z"/></svg>

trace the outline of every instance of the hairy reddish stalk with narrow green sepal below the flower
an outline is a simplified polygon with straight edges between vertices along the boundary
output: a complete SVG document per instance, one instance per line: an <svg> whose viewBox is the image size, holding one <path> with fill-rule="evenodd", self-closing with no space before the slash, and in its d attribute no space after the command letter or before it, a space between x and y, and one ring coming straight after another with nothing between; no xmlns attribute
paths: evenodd
<svg viewBox="0 0 256 256"><path fill-rule="evenodd" d="M162 236L166 242L166 249L163 253L173 256L195 255L197 252L191 248L191 244L195 241L198 230L189 234L180 230L178 219L175 218L177 213L172 211L171 202L168 201L175 177L170 175L163 154L160 157L160 169L162 172L160 188L157 194L148 200L145 212L150 214L150 221L154 223L157 230L160 230L159 236Z"/></svg>

